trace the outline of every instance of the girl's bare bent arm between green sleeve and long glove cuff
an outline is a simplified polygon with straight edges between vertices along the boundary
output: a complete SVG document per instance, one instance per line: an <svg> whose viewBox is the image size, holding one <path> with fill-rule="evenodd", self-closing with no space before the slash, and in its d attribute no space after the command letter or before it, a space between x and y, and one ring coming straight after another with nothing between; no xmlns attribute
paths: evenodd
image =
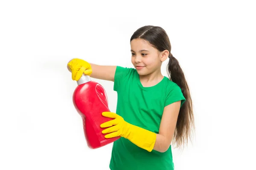
<svg viewBox="0 0 256 170"><path fill-rule="evenodd" d="M180 101L169 104L164 108L159 133L157 134L153 150L157 150L158 152L168 150L174 135L179 111Z"/></svg>

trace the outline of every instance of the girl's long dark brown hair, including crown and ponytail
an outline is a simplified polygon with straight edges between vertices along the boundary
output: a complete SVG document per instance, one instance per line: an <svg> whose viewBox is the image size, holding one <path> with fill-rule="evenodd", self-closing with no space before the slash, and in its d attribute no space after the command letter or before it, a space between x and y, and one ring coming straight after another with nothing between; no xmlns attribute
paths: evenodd
<svg viewBox="0 0 256 170"><path fill-rule="evenodd" d="M160 52L166 49L169 51L169 61L167 66L169 79L180 86L183 96L186 98L185 103L180 108L173 141L177 147L185 143L187 144L188 139L191 139L192 130L195 128L192 99L189 92L189 86L180 64L171 53L172 46L169 37L166 34L166 31L160 26L143 26L137 29L131 36L131 40L137 38L148 41Z"/></svg>

